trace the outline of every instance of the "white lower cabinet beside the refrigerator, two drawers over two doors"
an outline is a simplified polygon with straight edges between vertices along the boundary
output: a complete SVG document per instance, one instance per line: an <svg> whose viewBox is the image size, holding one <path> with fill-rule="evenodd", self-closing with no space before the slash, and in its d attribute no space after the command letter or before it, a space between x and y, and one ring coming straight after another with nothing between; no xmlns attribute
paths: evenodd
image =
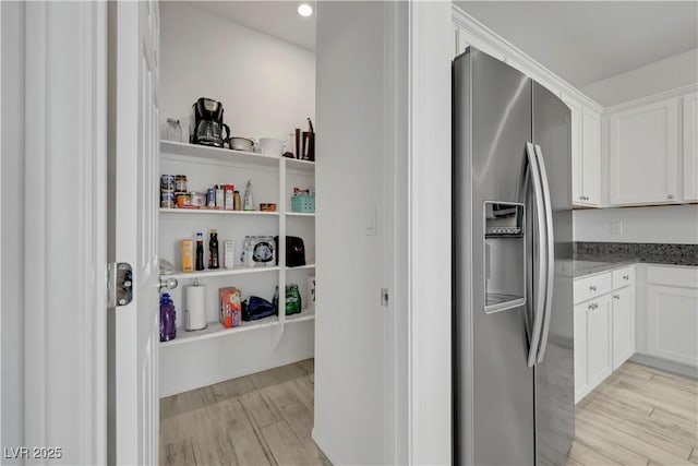
<svg viewBox="0 0 698 466"><path fill-rule="evenodd" d="M633 266L575 280L575 403L635 354Z"/></svg>

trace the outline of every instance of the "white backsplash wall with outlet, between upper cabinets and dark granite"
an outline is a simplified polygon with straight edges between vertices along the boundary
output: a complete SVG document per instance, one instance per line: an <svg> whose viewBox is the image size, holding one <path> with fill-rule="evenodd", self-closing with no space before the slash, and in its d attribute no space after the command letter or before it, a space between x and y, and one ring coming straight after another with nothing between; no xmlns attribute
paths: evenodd
<svg viewBox="0 0 698 466"><path fill-rule="evenodd" d="M698 205L576 210L575 241L698 244ZM619 223L622 232L611 226Z"/></svg>

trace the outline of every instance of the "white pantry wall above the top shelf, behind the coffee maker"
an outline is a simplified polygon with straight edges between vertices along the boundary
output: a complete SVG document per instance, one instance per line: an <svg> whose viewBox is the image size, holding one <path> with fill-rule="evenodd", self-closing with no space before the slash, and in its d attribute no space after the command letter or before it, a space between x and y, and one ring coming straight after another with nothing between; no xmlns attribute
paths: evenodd
<svg viewBox="0 0 698 466"><path fill-rule="evenodd" d="M198 97L224 105L233 135L286 141L315 117L315 57L183 2L160 2L160 121Z"/></svg>

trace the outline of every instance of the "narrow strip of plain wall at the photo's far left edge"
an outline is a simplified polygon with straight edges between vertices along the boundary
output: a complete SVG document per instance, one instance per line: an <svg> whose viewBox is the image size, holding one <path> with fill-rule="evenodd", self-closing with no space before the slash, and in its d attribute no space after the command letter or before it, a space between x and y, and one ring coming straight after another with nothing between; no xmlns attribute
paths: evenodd
<svg viewBox="0 0 698 466"><path fill-rule="evenodd" d="M1 2L2 16L2 158L0 186L2 232L0 255L0 328L2 328L2 415L0 446L24 445L24 4ZM4 464L7 459L2 463ZM8 462L11 463L11 462Z"/></svg>

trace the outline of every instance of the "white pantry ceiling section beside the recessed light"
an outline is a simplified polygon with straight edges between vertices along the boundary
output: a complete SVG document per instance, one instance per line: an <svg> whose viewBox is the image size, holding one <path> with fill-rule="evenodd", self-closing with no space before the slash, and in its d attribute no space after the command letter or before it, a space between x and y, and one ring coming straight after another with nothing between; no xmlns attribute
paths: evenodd
<svg viewBox="0 0 698 466"><path fill-rule="evenodd" d="M217 16L275 36L308 50L315 50L315 14L298 14L298 1L191 1Z"/></svg>

